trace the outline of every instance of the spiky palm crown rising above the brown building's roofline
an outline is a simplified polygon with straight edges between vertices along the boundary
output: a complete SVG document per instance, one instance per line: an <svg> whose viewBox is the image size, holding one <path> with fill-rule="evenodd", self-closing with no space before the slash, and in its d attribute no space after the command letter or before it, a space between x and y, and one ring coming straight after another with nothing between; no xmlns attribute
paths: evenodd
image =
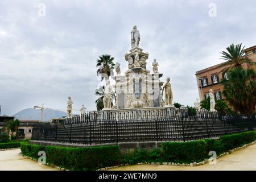
<svg viewBox="0 0 256 182"><path fill-rule="evenodd" d="M242 43L236 46L231 44L228 48L226 48L228 52L221 52L221 59L226 60L226 62L221 64L219 67L230 65L230 67L222 69L221 72L225 72L236 67L242 67L243 63L255 65L252 60L246 57L244 48L245 46L242 47Z"/></svg>

